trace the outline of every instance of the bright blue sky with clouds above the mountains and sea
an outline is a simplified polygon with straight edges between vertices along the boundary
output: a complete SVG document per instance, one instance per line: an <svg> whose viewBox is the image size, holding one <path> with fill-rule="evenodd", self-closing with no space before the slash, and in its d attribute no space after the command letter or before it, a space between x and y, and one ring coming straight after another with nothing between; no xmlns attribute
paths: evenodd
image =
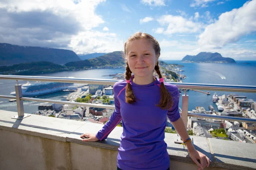
<svg viewBox="0 0 256 170"><path fill-rule="evenodd" d="M157 39L163 60L256 60L255 9L256 0L0 0L0 42L108 53L140 31Z"/></svg>

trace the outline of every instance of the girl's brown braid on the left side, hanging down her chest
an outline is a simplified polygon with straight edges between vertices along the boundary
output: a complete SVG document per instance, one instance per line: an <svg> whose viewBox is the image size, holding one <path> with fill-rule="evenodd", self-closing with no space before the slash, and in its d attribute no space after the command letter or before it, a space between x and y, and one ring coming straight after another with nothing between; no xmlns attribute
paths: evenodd
<svg viewBox="0 0 256 170"><path fill-rule="evenodd" d="M130 80L131 79L131 70L129 68L128 62L126 62L126 72L125 72L125 79ZM131 89L131 84L127 83L126 89L125 89L125 101L127 103L133 103L136 102L136 97L134 96L134 93Z"/></svg>

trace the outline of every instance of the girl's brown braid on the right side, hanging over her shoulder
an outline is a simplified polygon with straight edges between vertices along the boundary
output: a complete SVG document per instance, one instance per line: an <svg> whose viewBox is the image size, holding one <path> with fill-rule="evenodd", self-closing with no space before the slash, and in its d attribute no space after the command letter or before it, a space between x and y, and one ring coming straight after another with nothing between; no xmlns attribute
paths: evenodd
<svg viewBox="0 0 256 170"><path fill-rule="evenodd" d="M155 66L154 70L157 72L159 79L162 78L162 74L159 68L159 61L157 61L157 65ZM173 99L163 82L161 82L160 91L161 91L161 99L157 106L162 109L171 108L173 105Z"/></svg>

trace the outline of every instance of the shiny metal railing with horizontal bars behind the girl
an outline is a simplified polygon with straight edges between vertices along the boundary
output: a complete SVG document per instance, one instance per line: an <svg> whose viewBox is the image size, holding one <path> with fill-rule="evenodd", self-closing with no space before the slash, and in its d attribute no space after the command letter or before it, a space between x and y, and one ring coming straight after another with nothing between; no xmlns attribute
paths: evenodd
<svg viewBox="0 0 256 170"><path fill-rule="evenodd" d="M0 75L0 79L12 79L12 80L17 80L17 81L18 80L32 80L32 81L46 81L46 82L87 83L87 84L99 84L99 85L114 85L115 82L119 81L119 80L113 80L113 79L81 79L81 78L70 78L70 77L67 78L67 77L38 77L38 76L12 76L12 75ZM177 88L185 90L185 94L182 96L182 113L181 113L181 116L182 116L182 119L183 119L185 125L187 124L188 116L202 117L202 118L208 118L208 119L231 120L231 121L237 121L237 122L256 123L256 119L239 118L239 117L232 117L232 116L217 116L217 115L209 115L209 114L188 113L189 96L186 95L186 89L256 93L256 86L214 85L214 84L173 83L173 82L170 82L170 84L176 85ZM24 100L115 109L115 106L113 106L113 105L100 105L100 104L91 104L91 103L68 102L68 101L60 101L60 100L35 99L35 98L30 98L30 97L23 97L22 91L21 91L21 85L15 85L15 92L16 92L16 96L0 95L0 98L16 99L18 115L13 117L15 119L23 119L26 116L29 116L29 115L24 115L24 109L23 109L23 101Z"/></svg>

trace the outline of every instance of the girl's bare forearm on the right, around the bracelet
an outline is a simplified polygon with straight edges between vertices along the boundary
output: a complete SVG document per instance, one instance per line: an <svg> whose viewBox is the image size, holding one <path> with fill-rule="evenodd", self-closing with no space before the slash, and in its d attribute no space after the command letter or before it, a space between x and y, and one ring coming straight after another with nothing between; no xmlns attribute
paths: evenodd
<svg viewBox="0 0 256 170"><path fill-rule="evenodd" d="M179 119L177 119L175 122L172 122L172 125L174 126L175 130L180 135L180 137L183 141L189 138L189 135L186 131L186 127L185 127L184 122L181 119L181 117ZM195 150L195 147L192 144L192 142L187 143L186 147L188 148L189 152Z"/></svg>

